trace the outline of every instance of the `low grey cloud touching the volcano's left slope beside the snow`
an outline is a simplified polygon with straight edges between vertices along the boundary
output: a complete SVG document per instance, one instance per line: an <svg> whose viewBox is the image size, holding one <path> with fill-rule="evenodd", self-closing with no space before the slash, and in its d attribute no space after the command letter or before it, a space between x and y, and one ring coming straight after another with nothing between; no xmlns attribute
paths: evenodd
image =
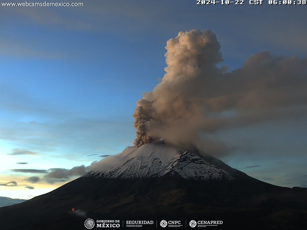
<svg viewBox="0 0 307 230"><path fill-rule="evenodd" d="M44 179L50 183L65 182L74 176L82 176L87 173L87 167L84 165L76 166L71 169L51 168L49 173L44 175Z"/></svg>

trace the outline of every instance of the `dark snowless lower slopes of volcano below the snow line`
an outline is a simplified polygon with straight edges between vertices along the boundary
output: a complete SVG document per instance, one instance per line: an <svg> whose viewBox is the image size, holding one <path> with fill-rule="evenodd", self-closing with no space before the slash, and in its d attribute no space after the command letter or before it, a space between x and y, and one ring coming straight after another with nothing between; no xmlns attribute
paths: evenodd
<svg viewBox="0 0 307 230"><path fill-rule="evenodd" d="M72 208L82 210L81 214L70 212ZM306 229L307 189L273 186L256 179L203 182L175 176L83 177L0 208L0 229L86 229L87 218L223 221L206 229Z"/></svg>

